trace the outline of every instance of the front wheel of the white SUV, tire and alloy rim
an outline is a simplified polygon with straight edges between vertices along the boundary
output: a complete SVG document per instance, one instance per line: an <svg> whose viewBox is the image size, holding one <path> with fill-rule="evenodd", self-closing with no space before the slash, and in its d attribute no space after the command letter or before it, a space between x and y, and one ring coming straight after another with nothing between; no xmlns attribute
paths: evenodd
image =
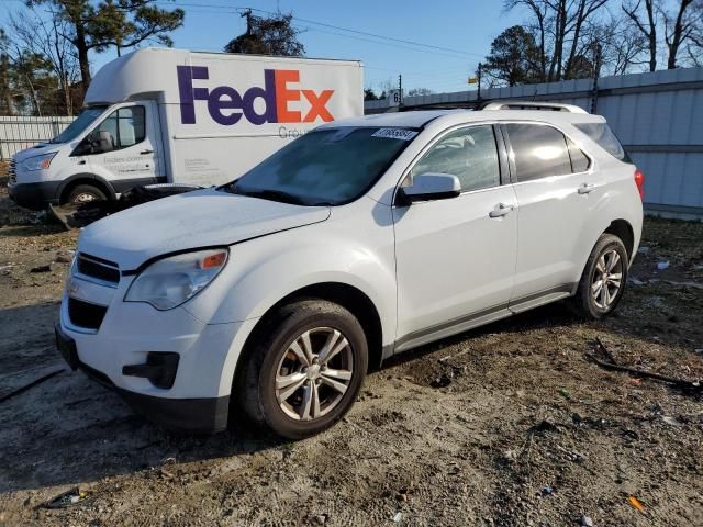
<svg viewBox="0 0 703 527"><path fill-rule="evenodd" d="M352 407L364 383L364 328L347 310L323 300L286 305L264 324L235 386L243 410L259 426L288 439L330 428ZM312 360L305 354L305 335ZM325 347L336 352L326 355Z"/></svg>

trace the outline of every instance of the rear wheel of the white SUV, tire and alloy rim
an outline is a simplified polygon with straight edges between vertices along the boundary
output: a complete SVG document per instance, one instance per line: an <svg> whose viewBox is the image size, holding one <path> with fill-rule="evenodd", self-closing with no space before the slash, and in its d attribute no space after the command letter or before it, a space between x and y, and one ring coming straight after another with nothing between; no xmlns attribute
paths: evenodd
<svg viewBox="0 0 703 527"><path fill-rule="evenodd" d="M601 235L585 262L577 293L571 299L576 314L600 319L615 311L627 283L627 249L623 242L612 234ZM610 272L604 289L602 269L607 268Z"/></svg>

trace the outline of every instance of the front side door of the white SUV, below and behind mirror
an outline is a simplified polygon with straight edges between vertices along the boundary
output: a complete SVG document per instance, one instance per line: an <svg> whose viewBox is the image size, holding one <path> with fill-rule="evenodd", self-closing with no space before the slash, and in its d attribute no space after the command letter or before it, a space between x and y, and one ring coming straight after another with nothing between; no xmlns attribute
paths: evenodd
<svg viewBox="0 0 703 527"><path fill-rule="evenodd" d="M456 176L461 193L394 206L397 350L504 316L513 289L517 209L500 131L483 124L445 133L402 184L428 172Z"/></svg>

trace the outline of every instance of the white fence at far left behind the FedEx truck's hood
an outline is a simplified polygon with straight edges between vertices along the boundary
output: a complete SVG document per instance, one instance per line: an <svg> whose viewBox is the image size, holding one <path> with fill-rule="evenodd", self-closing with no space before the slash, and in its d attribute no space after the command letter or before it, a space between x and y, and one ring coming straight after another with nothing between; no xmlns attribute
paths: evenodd
<svg viewBox="0 0 703 527"><path fill-rule="evenodd" d="M0 159L9 160L19 150L56 137L74 119L0 116Z"/></svg>

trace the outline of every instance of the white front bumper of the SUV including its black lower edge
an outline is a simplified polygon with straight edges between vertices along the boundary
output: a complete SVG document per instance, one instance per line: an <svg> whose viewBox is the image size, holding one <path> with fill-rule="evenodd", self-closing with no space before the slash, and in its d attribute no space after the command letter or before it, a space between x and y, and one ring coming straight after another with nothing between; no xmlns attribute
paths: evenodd
<svg viewBox="0 0 703 527"><path fill-rule="evenodd" d="M204 324L182 307L157 311L146 303L123 302L130 282L122 277L108 287L81 279L80 273L71 276L56 326L62 355L154 422L197 431L224 429L236 361L256 321ZM99 327L74 324L69 295L104 306ZM149 354L178 354L169 388L129 368L146 365Z"/></svg>

